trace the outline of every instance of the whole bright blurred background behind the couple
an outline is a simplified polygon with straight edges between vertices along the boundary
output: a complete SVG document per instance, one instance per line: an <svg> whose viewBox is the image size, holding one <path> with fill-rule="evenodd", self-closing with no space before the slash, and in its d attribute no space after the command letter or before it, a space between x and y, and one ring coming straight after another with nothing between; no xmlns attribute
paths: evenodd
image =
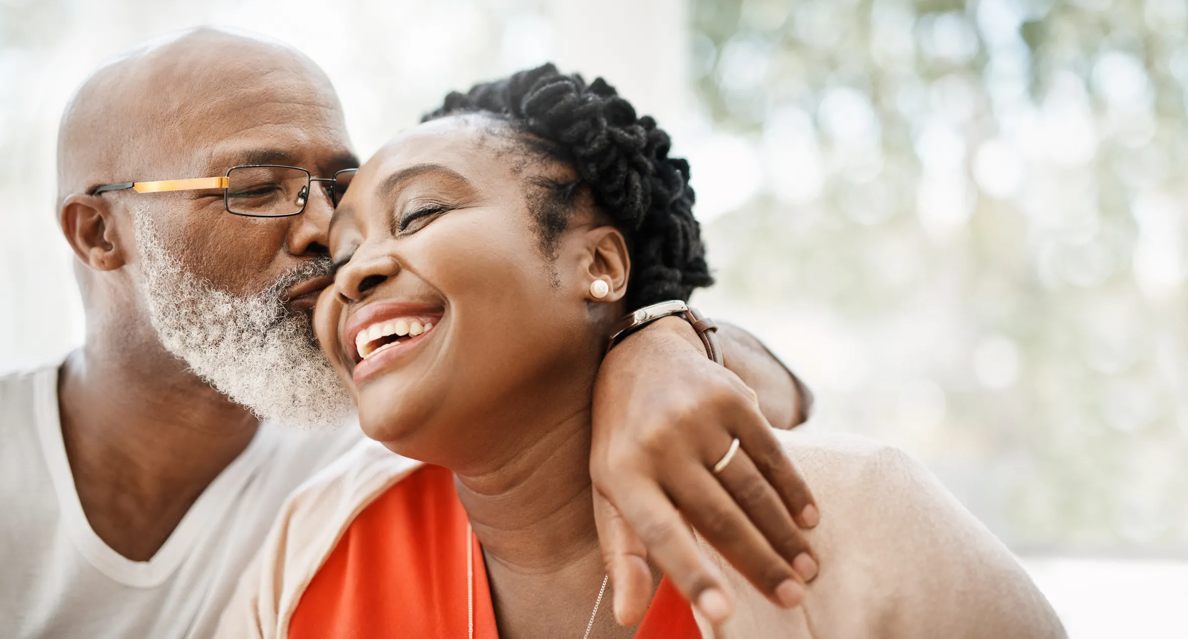
<svg viewBox="0 0 1188 639"><path fill-rule="evenodd" d="M474 81L605 75L693 163L695 300L808 380L810 428L922 458L1073 637L1188 637L1182 1L0 0L0 371L82 340L63 105L196 24L309 53L364 157Z"/></svg>

